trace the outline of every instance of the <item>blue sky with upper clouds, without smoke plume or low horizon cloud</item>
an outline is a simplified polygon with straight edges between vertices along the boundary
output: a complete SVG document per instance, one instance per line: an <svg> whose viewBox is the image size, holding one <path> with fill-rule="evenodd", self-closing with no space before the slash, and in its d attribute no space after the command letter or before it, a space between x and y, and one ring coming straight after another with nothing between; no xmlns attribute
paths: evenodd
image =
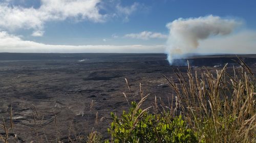
<svg viewBox="0 0 256 143"><path fill-rule="evenodd" d="M8 46L11 47L9 51L19 48L16 51L22 52L22 49L31 47L31 43L70 46L144 45L151 50L154 45L166 46L168 41L172 41L169 40L170 28L166 27L167 23L179 18L209 15L242 23L230 32L231 35L237 31L254 33L255 8L256 1L253 0L0 0L0 41L2 38L6 42L6 39L12 37L16 38L16 42L22 42L14 46L2 44L0 52L8 51ZM145 49L143 51L147 52ZM159 52L164 52L163 49ZM36 51L36 47L33 51Z"/></svg>

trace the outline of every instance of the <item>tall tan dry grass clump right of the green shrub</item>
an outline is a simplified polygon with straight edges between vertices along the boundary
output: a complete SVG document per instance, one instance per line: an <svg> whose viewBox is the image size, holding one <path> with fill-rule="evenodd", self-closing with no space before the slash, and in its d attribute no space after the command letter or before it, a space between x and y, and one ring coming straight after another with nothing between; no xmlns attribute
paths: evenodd
<svg viewBox="0 0 256 143"><path fill-rule="evenodd" d="M242 62L242 61L241 61ZM245 63L241 69L199 75L188 64L187 75L175 72L179 83L164 76L176 92L176 108L205 142L256 142L255 81Z"/></svg>

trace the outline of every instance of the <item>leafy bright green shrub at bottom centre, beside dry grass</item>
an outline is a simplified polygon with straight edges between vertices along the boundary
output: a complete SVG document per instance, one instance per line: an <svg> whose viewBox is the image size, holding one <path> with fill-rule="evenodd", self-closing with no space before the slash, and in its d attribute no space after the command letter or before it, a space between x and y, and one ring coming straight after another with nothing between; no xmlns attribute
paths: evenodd
<svg viewBox="0 0 256 143"><path fill-rule="evenodd" d="M147 108L148 109L148 108ZM113 142L198 142L195 133L187 128L181 116L169 113L153 115L132 102L129 112L121 118L111 113L113 122L108 131ZM106 141L107 142L107 141Z"/></svg>

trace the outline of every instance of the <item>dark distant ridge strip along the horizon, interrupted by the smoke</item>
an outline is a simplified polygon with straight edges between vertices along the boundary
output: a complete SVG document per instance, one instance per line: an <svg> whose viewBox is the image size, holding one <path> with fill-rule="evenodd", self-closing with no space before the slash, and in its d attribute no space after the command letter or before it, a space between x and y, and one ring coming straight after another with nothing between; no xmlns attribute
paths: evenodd
<svg viewBox="0 0 256 143"><path fill-rule="evenodd" d="M163 56L166 59L165 53L16 53L16 52L0 52L0 61L15 61L15 60L82 60L82 59L110 59L120 58L129 55L147 55L148 56ZM231 57L247 57L256 58L256 54L187 54L186 58L182 59L196 59L196 58L231 58ZM131 57L132 58L132 57Z"/></svg>

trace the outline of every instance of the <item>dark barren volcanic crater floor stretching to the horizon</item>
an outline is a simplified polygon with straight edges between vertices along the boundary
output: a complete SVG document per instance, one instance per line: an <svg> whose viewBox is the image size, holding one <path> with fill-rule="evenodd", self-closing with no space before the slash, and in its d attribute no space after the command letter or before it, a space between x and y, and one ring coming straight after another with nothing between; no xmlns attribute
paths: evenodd
<svg viewBox="0 0 256 143"><path fill-rule="evenodd" d="M12 110L14 129L9 133L25 142L36 140L36 132L44 139L57 134L65 140L69 134L97 130L108 138L110 112L121 115L129 108L123 93L129 102L139 101L141 83L144 93L150 94L144 107L152 105L155 96L168 104L173 91L160 73L178 83L174 70L187 71L184 65L170 66L164 54L0 55L0 116L9 126ZM256 55L239 56L255 73ZM193 72L201 74L206 69L216 72L225 63L228 72L240 68L231 59L238 60L234 55L200 55L174 62L188 60ZM0 134L4 134L2 128Z"/></svg>

